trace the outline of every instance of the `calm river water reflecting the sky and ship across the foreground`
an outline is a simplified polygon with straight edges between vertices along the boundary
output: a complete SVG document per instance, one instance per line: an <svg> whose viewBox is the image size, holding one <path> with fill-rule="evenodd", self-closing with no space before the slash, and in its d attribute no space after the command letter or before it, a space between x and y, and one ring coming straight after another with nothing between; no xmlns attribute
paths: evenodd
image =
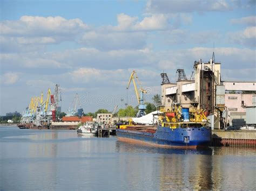
<svg viewBox="0 0 256 191"><path fill-rule="evenodd" d="M255 190L255 177L255 148L173 150L0 127L0 190Z"/></svg>

